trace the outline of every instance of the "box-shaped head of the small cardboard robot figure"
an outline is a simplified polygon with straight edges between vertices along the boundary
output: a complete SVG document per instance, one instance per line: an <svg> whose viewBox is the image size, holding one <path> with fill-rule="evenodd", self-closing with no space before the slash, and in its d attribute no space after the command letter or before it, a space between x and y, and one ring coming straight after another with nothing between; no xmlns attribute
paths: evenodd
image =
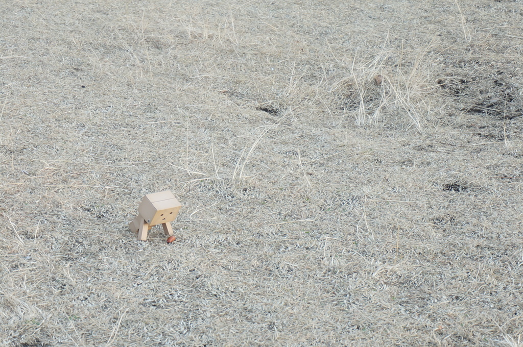
<svg viewBox="0 0 523 347"><path fill-rule="evenodd" d="M181 204L170 191L144 196L138 212L149 225L173 222Z"/></svg>

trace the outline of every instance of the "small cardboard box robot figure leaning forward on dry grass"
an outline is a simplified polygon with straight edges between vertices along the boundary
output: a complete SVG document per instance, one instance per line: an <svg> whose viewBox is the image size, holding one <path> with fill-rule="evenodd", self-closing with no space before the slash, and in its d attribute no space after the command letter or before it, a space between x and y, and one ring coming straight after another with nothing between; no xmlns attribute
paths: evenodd
<svg viewBox="0 0 523 347"><path fill-rule="evenodd" d="M171 239L173 228L170 226L170 222L174 221L180 207L181 204L168 190L147 194L138 207L138 216L129 223L129 228L133 233L138 232L139 240L147 241L147 231L157 224L162 224L165 235Z"/></svg>

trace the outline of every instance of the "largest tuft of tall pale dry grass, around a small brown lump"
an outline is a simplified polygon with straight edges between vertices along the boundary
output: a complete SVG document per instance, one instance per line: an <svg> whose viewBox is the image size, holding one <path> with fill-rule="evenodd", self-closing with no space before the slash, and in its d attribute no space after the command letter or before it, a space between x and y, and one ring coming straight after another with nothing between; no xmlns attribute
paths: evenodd
<svg viewBox="0 0 523 347"><path fill-rule="evenodd" d="M387 122L402 115L410 122L408 128L412 126L423 133L425 114L433 111L427 100L435 88L430 83L434 79L430 64L424 62L426 50L417 53L412 61L405 61L403 51L389 51L385 45L370 59L356 54L347 68L349 75L333 83L331 91L342 94L345 109L358 125Z"/></svg>

